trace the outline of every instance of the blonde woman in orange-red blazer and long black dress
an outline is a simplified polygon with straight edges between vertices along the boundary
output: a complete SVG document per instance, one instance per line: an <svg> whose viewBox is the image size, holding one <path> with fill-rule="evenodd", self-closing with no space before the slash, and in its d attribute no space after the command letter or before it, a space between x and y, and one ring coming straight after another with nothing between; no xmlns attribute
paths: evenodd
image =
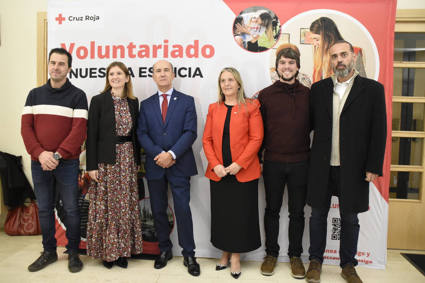
<svg viewBox="0 0 425 283"><path fill-rule="evenodd" d="M258 100L246 98L237 70L221 70L218 101L208 107L202 143L211 189L211 243L223 251L215 269L225 269L230 260L234 278L241 275L239 254L261 247L257 153L263 141L263 119L259 107Z"/></svg>

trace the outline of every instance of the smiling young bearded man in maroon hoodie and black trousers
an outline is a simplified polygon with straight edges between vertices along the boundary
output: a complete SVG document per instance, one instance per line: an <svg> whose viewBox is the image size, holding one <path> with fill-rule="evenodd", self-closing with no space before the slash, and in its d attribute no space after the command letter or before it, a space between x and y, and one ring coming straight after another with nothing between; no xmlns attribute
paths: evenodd
<svg viewBox="0 0 425 283"><path fill-rule="evenodd" d="M264 122L263 179L266 191L264 230L266 257L263 275L273 275L279 255L279 213L285 185L288 188L289 266L292 276L306 275L301 253L304 232L307 174L310 152L309 88L295 79L300 69L300 54L291 48L279 51L276 70L279 80L261 90L258 100Z"/></svg>

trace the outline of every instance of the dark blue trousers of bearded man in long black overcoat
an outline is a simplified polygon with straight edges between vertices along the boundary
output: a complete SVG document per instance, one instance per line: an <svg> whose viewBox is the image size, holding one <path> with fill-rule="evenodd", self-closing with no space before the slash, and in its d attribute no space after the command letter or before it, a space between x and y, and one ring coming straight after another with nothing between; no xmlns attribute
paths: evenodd
<svg viewBox="0 0 425 283"><path fill-rule="evenodd" d="M329 185L323 207L312 207L310 217L310 248L309 260L315 258L323 263L323 253L326 248L326 233L329 208L333 193L340 195L340 166L331 166L329 170ZM346 267L352 263L357 266L357 241L359 239L359 219L357 213L342 213L340 230L340 266Z"/></svg>

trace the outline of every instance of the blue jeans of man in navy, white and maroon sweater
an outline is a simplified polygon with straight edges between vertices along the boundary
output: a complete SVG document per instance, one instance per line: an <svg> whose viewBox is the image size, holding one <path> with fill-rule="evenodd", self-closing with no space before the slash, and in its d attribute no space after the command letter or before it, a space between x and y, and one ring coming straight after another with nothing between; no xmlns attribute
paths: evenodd
<svg viewBox="0 0 425 283"><path fill-rule="evenodd" d="M78 207L79 159L60 160L52 171L43 171L38 161L31 161L34 193L38 203L43 249L56 252L54 200L56 187L65 209L67 252L76 252L80 243L80 212Z"/></svg>

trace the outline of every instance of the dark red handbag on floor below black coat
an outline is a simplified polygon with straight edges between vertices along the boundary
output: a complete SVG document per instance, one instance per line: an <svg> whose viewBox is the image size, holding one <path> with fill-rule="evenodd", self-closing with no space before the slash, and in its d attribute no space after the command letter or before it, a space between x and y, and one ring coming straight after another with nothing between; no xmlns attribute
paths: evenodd
<svg viewBox="0 0 425 283"><path fill-rule="evenodd" d="M21 205L8 211L4 231L11 236L41 235L38 205L31 199L30 205Z"/></svg>

